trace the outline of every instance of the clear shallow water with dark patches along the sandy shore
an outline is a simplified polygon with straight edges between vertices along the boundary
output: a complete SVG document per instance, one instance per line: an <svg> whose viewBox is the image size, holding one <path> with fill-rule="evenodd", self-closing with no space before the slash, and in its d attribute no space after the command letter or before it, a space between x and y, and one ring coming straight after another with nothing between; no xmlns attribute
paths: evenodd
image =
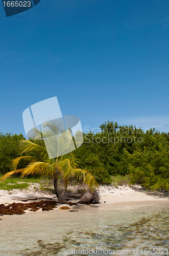
<svg viewBox="0 0 169 256"><path fill-rule="evenodd" d="M1 217L0 255L169 255L167 201L71 209Z"/></svg>

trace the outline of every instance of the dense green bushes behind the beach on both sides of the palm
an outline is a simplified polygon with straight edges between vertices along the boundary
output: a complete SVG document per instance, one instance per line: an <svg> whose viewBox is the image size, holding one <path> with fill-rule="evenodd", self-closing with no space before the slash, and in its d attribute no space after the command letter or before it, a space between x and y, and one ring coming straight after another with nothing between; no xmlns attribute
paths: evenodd
<svg viewBox="0 0 169 256"><path fill-rule="evenodd" d="M99 183L116 182L115 177L124 176L124 184L169 189L169 133L155 129L145 132L132 125L119 126L109 121L100 129L101 132L95 134L83 134L84 142L75 151L80 168L88 168ZM16 144L20 139L23 139L21 134L0 136L3 174L9 171L10 161L17 157Z"/></svg>

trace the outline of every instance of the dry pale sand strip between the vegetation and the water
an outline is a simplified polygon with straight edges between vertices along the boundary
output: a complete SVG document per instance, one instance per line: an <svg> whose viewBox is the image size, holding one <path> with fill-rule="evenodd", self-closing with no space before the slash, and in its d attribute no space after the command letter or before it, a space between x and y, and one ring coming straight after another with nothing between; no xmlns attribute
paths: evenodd
<svg viewBox="0 0 169 256"><path fill-rule="evenodd" d="M101 204L104 202L106 204L114 204L123 202L167 201L169 199L169 191L146 191L142 187L136 185L132 187L119 186L118 188L111 185L103 185L99 187L99 192L101 196ZM43 198L51 198L58 201L57 197L54 194L49 194L40 190L0 190L0 204L7 204L13 202L19 203L23 202L21 200L31 200L35 198L39 198L39 200L42 200ZM77 201L77 199L72 200L72 202L73 201Z"/></svg>

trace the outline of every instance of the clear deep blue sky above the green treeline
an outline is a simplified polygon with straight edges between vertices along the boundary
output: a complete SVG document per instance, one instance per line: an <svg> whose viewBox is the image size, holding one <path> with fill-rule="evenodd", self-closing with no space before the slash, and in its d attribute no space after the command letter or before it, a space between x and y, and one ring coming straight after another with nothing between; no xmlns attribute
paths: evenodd
<svg viewBox="0 0 169 256"><path fill-rule="evenodd" d="M41 0L10 17L1 2L0 21L0 132L25 135L22 112L54 96L83 131L169 132L168 1Z"/></svg>

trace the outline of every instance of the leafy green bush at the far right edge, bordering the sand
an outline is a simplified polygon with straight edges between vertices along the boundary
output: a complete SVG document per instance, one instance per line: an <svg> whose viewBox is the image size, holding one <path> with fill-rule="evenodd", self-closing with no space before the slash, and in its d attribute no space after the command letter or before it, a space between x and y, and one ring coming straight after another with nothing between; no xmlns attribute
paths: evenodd
<svg viewBox="0 0 169 256"><path fill-rule="evenodd" d="M169 189L169 145L163 135L154 136L154 145L127 151L131 184L141 184L147 189Z"/></svg>

